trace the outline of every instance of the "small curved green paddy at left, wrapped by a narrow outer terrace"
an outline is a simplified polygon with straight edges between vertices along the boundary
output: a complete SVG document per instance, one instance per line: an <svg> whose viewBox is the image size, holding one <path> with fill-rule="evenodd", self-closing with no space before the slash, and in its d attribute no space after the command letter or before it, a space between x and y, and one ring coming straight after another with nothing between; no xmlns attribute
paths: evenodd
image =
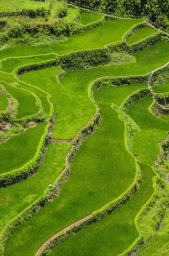
<svg viewBox="0 0 169 256"><path fill-rule="evenodd" d="M38 113L39 106L36 105L36 98L31 93L10 84L2 85L18 101L17 119Z"/></svg>

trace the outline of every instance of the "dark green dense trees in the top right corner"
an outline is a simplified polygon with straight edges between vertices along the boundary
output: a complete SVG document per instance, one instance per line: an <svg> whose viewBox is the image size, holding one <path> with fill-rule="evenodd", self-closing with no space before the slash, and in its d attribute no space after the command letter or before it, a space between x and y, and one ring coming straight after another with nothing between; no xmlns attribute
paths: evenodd
<svg viewBox="0 0 169 256"><path fill-rule="evenodd" d="M72 0L72 2L88 7L101 8L115 15L144 16L158 25L169 27L169 2L166 0Z"/></svg>

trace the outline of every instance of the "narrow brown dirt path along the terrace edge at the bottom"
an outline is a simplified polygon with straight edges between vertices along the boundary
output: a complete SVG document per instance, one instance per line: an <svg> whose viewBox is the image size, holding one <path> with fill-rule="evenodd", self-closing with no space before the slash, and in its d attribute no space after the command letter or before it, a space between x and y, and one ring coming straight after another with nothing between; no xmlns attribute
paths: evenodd
<svg viewBox="0 0 169 256"><path fill-rule="evenodd" d="M46 248L46 246L53 241L54 239L56 239L56 237L61 236L62 234L64 234L65 232L69 231L70 229L81 225L83 222L91 219L93 217L93 214L90 214L82 219L80 219L77 222L74 222L72 224L70 224L69 226L67 226L65 229L62 229L61 231L59 231L58 233L56 233L54 236L51 236L50 239L48 239L36 252L35 256L39 256L41 252L43 252L43 250Z"/></svg>

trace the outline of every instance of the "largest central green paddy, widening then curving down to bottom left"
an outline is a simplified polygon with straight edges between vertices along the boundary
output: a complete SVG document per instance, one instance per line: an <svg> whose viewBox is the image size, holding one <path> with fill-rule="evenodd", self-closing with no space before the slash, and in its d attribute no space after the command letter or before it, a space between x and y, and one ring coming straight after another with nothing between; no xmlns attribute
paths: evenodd
<svg viewBox="0 0 169 256"><path fill-rule="evenodd" d="M69 182L63 186L59 197L16 231L7 245L7 255L10 255L12 243L13 251L22 255L27 250L27 239L30 241L27 255L33 255L52 234L112 201L132 183L136 173L135 161L126 151L124 123L111 108L111 103L114 101L120 105L125 96L145 86L126 86L125 95L122 94L124 87L109 89L107 93L103 89L104 101L96 95L103 118L98 130L83 142L71 164Z"/></svg>

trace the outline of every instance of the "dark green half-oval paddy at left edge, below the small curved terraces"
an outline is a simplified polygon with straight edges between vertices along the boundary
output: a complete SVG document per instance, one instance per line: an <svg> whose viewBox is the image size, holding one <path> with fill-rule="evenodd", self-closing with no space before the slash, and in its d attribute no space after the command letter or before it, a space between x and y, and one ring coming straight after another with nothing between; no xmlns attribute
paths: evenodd
<svg viewBox="0 0 169 256"><path fill-rule="evenodd" d="M0 144L0 174L22 167L35 155L46 123L39 123Z"/></svg>

